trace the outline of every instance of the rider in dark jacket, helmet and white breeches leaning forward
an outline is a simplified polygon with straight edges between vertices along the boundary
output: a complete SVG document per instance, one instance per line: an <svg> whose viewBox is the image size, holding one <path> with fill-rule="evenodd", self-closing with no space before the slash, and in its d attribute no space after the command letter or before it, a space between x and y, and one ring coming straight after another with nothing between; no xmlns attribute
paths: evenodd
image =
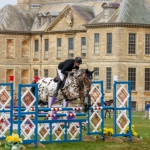
<svg viewBox="0 0 150 150"><path fill-rule="evenodd" d="M57 97L58 95L58 91L62 86L64 77L68 76L68 72L72 71L73 69L79 69L79 65L82 64L82 59L81 57L76 57L75 59L67 59L64 62L61 62L58 65L58 75L59 75L59 81L57 83L57 88L56 88L56 92L54 94L54 97ZM73 72L69 73L71 76L73 76Z"/></svg>

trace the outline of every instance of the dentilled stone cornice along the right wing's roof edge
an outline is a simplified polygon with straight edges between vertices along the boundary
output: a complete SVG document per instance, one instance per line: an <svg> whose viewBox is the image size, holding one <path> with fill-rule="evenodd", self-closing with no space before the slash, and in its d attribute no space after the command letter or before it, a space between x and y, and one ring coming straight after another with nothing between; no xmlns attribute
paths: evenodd
<svg viewBox="0 0 150 150"><path fill-rule="evenodd" d="M83 24L86 28L97 28L97 27L146 27L149 28L150 24L138 24L138 23L96 23L96 24Z"/></svg>

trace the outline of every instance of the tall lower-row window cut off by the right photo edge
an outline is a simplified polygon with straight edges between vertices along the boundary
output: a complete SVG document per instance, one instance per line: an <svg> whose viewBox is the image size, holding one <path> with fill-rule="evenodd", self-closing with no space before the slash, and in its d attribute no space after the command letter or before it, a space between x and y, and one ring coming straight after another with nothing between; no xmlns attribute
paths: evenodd
<svg viewBox="0 0 150 150"><path fill-rule="evenodd" d="M150 91L150 68L145 68L145 91Z"/></svg>

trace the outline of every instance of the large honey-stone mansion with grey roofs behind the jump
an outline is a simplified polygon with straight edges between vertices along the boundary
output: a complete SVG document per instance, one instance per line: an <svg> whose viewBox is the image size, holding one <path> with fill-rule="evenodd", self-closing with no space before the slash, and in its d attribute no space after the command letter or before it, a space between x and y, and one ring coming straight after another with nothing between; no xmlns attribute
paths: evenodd
<svg viewBox="0 0 150 150"><path fill-rule="evenodd" d="M59 62L81 56L105 99L113 80L132 81L132 106L150 101L150 0L18 0L0 10L0 82L55 77Z"/></svg>

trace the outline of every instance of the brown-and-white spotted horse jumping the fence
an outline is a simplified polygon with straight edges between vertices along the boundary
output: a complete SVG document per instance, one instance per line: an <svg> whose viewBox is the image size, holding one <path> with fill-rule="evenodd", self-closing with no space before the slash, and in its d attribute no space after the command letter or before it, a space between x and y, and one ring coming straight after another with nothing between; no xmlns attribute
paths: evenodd
<svg viewBox="0 0 150 150"><path fill-rule="evenodd" d="M91 90L93 72L94 70L89 71L88 69L81 69L74 71L73 76L68 75L63 88L58 92L55 104L62 103L64 99L66 101L80 99L81 104L85 106L84 111L86 112L90 106L86 105L85 98ZM57 77L39 78L37 81L39 102L48 102L48 98L53 97L57 87L57 82ZM34 88L32 88L31 91L33 92Z"/></svg>

